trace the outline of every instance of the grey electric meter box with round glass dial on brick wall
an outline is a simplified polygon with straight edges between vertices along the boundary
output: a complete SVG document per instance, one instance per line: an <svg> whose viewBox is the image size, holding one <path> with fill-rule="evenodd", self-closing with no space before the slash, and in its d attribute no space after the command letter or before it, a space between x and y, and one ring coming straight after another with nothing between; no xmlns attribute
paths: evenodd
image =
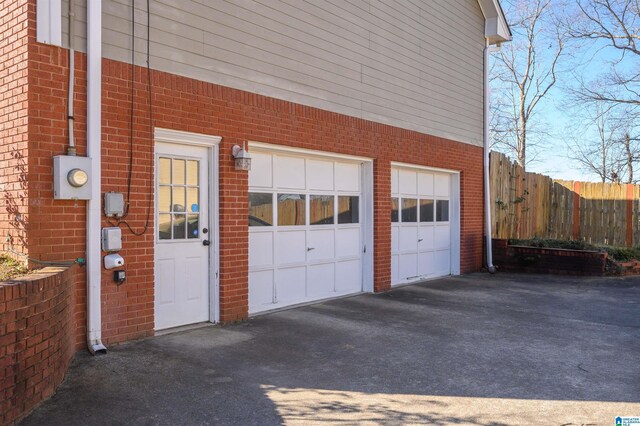
<svg viewBox="0 0 640 426"><path fill-rule="evenodd" d="M91 159L75 155L53 157L53 198L91 199Z"/></svg>

